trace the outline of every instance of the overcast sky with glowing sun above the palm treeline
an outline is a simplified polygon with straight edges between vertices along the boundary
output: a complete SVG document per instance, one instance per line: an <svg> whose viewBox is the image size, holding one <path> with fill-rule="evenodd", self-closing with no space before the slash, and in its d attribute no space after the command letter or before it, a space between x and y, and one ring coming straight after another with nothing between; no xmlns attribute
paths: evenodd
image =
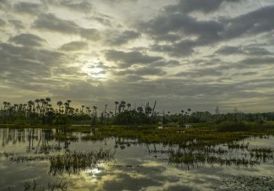
<svg viewBox="0 0 274 191"><path fill-rule="evenodd" d="M274 0L0 0L0 101L274 108Z"/></svg>

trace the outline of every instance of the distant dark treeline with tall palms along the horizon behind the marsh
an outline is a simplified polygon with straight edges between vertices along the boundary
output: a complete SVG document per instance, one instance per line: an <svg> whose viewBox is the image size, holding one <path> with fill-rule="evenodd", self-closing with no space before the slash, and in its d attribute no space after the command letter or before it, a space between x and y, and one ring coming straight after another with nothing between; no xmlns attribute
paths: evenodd
<svg viewBox="0 0 274 191"><path fill-rule="evenodd" d="M145 106L132 106L125 101L113 102L114 111L108 109L108 104L98 110L97 106L79 106L73 108L71 100L58 101L55 108L50 98L29 100L26 104L10 104L3 102L0 113L0 123L16 124L49 124L49 125L126 125L139 126L160 124L162 126L182 126L186 123L199 123L201 126L216 126L220 131L250 130L258 126L272 126L265 121L274 121L274 113L242 113L234 109L232 113L221 114L216 107L214 114L206 112L191 112L188 108L179 113L155 111L157 102L149 102Z"/></svg>

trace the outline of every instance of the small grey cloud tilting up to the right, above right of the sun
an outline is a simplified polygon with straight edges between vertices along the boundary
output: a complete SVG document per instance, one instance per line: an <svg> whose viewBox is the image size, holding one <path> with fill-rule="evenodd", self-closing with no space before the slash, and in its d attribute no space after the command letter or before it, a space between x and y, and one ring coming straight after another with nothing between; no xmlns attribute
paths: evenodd
<svg viewBox="0 0 274 191"><path fill-rule="evenodd" d="M123 31L123 33L121 33L121 35L119 35L118 37L112 38L110 40L110 44L114 46L119 46L139 37L140 33L136 31Z"/></svg>

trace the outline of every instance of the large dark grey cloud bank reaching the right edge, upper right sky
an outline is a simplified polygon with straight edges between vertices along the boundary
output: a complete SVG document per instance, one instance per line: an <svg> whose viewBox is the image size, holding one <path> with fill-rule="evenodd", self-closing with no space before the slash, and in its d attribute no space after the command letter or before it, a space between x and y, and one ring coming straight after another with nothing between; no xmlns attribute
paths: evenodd
<svg viewBox="0 0 274 191"><path fill-rule="evenodd" d="M269 32L274 29L273 17L274 6L219 20L197 20L184 12L161 12L138 28L156 42L167 42L153 44L151 50L180 57L192 55L199 46Z"/></svg>

